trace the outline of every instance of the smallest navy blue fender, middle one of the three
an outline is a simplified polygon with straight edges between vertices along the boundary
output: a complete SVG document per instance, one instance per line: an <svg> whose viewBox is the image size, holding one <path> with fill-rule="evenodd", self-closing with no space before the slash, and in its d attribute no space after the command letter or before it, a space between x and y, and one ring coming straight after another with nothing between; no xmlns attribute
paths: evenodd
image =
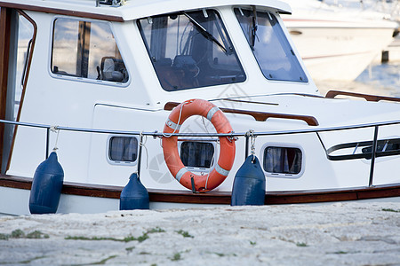
<svg viewBox="0 0 400 266"><path fill-rule="evenodd" d="M129 177L119 199L119 209L149 209L148 190L140 183L139 176L133 173Z"/></svg>

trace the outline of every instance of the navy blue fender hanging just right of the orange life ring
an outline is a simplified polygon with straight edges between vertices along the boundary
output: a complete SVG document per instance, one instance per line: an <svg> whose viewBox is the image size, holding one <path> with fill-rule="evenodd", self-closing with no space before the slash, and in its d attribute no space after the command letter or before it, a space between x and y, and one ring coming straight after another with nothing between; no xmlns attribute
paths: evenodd
<svg viewBox="0 0 400 266"><path fill-rule="evenodd" d="M265 183L259 159L250 155L237 170L230 205L264 205Z"/></svg>

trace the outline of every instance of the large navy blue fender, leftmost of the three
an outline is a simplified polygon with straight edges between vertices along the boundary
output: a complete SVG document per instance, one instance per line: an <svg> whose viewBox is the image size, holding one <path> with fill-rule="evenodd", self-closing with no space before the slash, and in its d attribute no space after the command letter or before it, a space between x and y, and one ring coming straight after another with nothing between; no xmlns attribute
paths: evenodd
<svg viewBox="0 0 400 266"><path fill-rule="evenodd" d="M57 153L50 153L35 171L29 196L29 211L33 215L55 214L60 203L64 170Z"/></svg>

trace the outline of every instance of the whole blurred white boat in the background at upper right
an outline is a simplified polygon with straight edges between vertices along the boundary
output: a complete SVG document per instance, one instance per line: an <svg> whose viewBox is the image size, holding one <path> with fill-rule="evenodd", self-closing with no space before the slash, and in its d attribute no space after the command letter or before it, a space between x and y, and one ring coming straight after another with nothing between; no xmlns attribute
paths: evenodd
<svg viewBox="0 0 400 266"><path fill-rule="evenodd" d="M393 42L397 23L386 13L289 0L284 24L314 80L352 81Z"/></svg>

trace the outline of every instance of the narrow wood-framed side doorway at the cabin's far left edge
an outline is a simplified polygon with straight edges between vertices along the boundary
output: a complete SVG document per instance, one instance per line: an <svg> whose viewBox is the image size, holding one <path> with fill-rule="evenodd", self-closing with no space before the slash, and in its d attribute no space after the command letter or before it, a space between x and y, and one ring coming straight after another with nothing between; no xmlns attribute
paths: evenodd
<svg viewBox="0 0 400 266"><path fill-rule="evenodd" d="M0 90L4 97L4 102L0 105L1 119L19 121L19 110L27 86L37 28L35 21L25 12L2 7L0 24ZM0 168L1 173L4 173L9 163L16 127L11 124L0 125L3 132Z"/></svg>

